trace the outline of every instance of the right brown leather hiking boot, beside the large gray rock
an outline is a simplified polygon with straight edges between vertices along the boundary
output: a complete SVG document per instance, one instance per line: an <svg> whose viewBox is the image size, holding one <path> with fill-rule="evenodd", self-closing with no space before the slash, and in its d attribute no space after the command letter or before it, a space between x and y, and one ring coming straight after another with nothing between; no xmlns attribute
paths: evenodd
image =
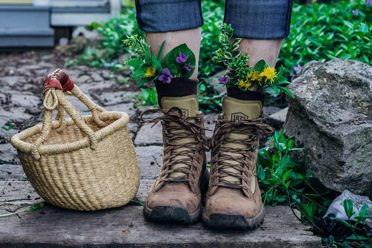
<svg viewBox="0 0 372 248"><path fill-rule="evenodd" d="M218 116L210 145L211 173L203 221L214 228L257 227L264 219L256 178L259 135L271 136L275 129L258 119L260 101L224 97L222 106L224 113Z"/></svg>

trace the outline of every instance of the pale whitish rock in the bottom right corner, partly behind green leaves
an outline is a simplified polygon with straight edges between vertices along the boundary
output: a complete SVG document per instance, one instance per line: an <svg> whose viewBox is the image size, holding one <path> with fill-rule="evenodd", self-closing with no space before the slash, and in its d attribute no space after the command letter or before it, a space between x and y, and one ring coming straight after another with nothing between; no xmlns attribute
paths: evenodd
<svg viewBox="0 0 372 248"><path fill-rule="evenodd" d="M359 196L358 194L353 194L349 190L344 190L339 196L337 196L333 202L328 207L327 213L323 216L323 219L327 217L330 213L333 213L336 218L342 220L348 220L346 215L343 202L345 199L350 199L353 202L353 212L359 215L359 210L364 204L367 204L369 209L372 209L372 202L366 196ZM352 216L351 220L356 221L355 217ZM367 222L371 223L371 220L367 219Z"/></svg>

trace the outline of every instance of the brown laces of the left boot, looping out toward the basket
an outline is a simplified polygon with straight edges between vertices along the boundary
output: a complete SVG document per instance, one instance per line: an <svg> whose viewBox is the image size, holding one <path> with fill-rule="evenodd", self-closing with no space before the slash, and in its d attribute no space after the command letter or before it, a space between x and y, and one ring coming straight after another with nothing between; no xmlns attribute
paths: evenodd
<svg viewBox="0 0 372 248"><path fill-rule="evenodd" d="M143 115L146 115L148 113L162 113L162 116L156 117L154 119L150 120L144 120ZM159 175L160 178L162 178L159 183L162 182L170 182L170 181L188 181L189 183L193 183L192 180L189 178L189 174L193 176L193 178L196 178L196 175L191 171L190 169L194 167L197 171L199 170L198 165L193 164L193 159L197 160L197 162L200 164L202 161L198 160L198 157L195 155L196 152L199 154L202 153L201 149L196 148L196 145L201 145L202 149L205 151L209 151L208 142L203 135L203 129L208 130L205 128L201 128L198 126L198 123L201 123L203 120L201 117L198 116L191 116L191 117L183 117L182 110L178 107L172 107L170 109L149 109L145 110L141 113L141 120L147 123L154 123L154 125L157 122L161 122L162 125L166 127L166 130L164 130L164 134L169 137L164 141L164 145L170 146L169 154L167 155L168 159L167 163L164 163L161 167L161 173ZM192 122L192 120L195 120L195 122ZM179 125L170 125L170 122L175 122ZM154 126L152 125L151 128ZM190 132L177 132L180 130L188 130ZM171 132L173 131L173 132ZM193 142L186 142L179 145L173 144L172 141L180 140L180 139L186 139L186 138L194 138L195 141ZM174 151L179 148L186 148L183 151ZM185 156L180 159L176 159L171 161L172 158L176 156ZM183 167L179 168L170 168L173 164L185 164ZM168 174L173 172L183 172L187 175L180 175L177 177L168 177ZM166 176L164 178L164 176ZM175 179L177 178L177 179Z"/></svg>

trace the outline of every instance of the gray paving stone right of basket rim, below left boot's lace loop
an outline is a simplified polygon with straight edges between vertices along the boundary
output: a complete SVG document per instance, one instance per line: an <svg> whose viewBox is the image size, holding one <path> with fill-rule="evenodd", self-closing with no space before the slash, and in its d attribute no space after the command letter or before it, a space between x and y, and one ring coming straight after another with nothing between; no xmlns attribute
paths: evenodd
<svg viewBox="0 0 372 248"><path fill-rule="evenodd" d="M160 122L158 122L153 128L151 126L154 123L145 123L138 131L137 136L134 140L134 145L162 145L163 144L163 133Z"/></svg>

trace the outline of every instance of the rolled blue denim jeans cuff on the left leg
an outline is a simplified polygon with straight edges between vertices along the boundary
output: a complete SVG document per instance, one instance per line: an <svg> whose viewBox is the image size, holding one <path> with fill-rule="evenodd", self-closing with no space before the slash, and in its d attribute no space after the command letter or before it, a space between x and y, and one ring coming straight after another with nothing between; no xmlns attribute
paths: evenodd
<svg viewBox="0 0 372 248"><path fill-rule="evenodd" d="M147 32L169 32L203 26L201 0L135 0L137 23Z"/></svg>

